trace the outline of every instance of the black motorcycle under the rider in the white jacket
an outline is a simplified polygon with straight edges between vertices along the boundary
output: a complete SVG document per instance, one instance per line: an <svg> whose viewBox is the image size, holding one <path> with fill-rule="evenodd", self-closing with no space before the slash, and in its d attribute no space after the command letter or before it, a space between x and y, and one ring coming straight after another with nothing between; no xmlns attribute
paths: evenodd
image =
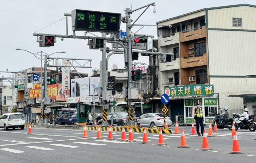
<svg viewBox="0 0 256 163"><path fill-rule="evenodd" d="M237 126L240 127L240 129L249 129L250 131L255 131L256 130L256 124L254 123L254 115L250 115L249 119L247 121L243 121L245 117L240 117L239 114L235 115L234 117L234 122L237 124ZM245 125L242 127L242 123Z"/></svg>

